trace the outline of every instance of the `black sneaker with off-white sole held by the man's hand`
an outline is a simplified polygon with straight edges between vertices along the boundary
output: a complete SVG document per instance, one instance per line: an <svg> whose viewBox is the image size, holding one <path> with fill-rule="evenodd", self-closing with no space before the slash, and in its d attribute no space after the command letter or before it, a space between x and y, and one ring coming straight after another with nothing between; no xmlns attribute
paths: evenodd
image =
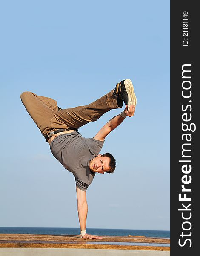
<svg viewBox="0 0 200 256"><path fill-rule="evenodd" d="M123 102L128 105L128 110L131 105L136 106L137 99L135 96L133 84L130 79L125 79L116 84L116 87L113 92L114 99L122 99Z"/></svg>

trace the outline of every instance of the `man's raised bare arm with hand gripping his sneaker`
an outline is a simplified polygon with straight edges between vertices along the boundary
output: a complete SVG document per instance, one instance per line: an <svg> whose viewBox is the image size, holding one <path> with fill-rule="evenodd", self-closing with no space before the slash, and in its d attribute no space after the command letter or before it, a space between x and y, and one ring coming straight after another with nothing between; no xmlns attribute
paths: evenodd
<svg viewBox="0 0 200 256"><path fill-rule="evenodd" d="M126 116L134 116L135 113L135 107L134 105L131 105L128 111L128 106L126 105L125 110L123 111L123 115ZM94 136L94 139L103 141L106 136L113 131L118 125L120 125L124 120L124 117L122 117L120 114L117 116L114 116L109 122L104 125L100 131L97 132L97 134Z"/></svg>

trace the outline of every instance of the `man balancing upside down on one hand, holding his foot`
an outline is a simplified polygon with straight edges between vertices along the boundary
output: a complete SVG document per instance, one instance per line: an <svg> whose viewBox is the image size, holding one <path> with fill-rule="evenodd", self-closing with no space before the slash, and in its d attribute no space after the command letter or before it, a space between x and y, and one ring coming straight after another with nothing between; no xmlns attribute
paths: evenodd
<svg viewBox="0 0 200 256"><path fill-rule="evenodd" d="M88 205L86 190L95 174L112 173L115 159L110 153L99 154L106 136L126 116L133 116L137 99L130 79L117 83L114 90L86 106L61 109L54 99L37 96L31 92L21 94L21 100L31 118L40 129L54 157L70 172L76 182L78 217L82 238L101 238L86 233ZM111 109L126 107L114 116L93 137L82 137L77 129L88 122L96 121Z"/></svg>

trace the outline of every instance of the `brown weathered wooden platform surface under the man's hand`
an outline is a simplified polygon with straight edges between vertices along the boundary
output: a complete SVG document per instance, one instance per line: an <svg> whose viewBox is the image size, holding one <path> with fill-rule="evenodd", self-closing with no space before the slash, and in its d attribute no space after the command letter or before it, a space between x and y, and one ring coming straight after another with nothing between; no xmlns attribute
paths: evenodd
<svg viewBox="0 0 200 256"><path fill-rule="evenodd" d="M59 249L74 248L74 249L103 249L103 251L104 249L146 250L146 251L148 250L148 251L154 251L154 253L155 251L166 251L166 252L170 251L170 247L156 245L156 244L170 244L170 239L149 238L149 237L143 237L143 236L102 236L102 237L103 239L82 239L79 235L59 235L58 236L58 235L30 235L30 234L0 234L0 248L59 248ZM93 242L95 242L95 244L92 244ZM102 242L114 242L114 244L102 244ZM149 245L142 245L142 244L141 245L140 244L139 245L127 245L127 244L123 245L121 244L122 242L126 242L128 244L135 243L135 242L149 243ZM150 244L155 244L155 246L151 246ZM83 250L83 252L84 251L85 250ZM97 251L95 252L97 253ZM62 254L59 254L59 255L62 255ZM147 255L147 254L140 254L140 255ZM148 254L148 255L153 255L153 254Z"/></svg>

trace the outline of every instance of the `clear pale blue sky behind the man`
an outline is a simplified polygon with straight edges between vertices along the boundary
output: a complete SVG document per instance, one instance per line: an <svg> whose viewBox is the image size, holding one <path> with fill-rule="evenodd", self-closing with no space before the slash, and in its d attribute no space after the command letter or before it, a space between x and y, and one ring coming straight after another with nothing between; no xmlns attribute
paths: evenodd
<svg viewBox="0 0 200 256"><path fill-rule="evenodd" d="M106 138L117 160L87 191L87 227L170 229L170 2L1 3L0 226L79 227L74 176L51 154L20 93L86 105L129 78L135 116ZM79 129L94 137L120 113Z"/></svg>

